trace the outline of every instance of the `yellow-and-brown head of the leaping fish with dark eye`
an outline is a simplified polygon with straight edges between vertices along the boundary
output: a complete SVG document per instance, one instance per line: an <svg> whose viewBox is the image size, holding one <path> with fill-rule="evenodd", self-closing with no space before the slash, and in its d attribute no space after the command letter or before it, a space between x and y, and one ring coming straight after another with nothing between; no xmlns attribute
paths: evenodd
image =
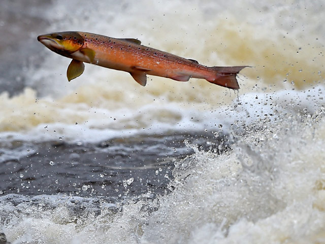
<svg viewBox="0 0 325 244"><path fill-rule="evenodd" d="M78 32L56 32L37 37L50 50L69 54L78 51L84 45L84 38Z"/></svg>

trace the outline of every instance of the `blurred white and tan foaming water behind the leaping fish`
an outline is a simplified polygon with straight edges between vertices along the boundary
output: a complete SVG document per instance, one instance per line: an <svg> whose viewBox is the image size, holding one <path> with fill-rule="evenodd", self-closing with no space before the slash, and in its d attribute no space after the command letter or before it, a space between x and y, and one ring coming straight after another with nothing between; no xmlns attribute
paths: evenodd
<svg viewBox="0 0 325 244"><path fill-rule="evenodd" d="M208 66L250 65L239 75L240 97L250 103L256 95L273 96L280 90L293 94L291 89L308 90L323 81L323 37L319 36L323 26L315 27L312 21L321 19L321 11L314 5L301 9L285 2L274 4L277 8L254 1L236 5L191 1L184 6L181 1L162 4L142 0L110 6L94 2L85 8L78 1L58 0L45 11L52 25L44 32L76 30L132 37ZM70 6L78 7L70 11ZM292 16L304 13L304 17L292 27L282 21L288 12ZM304 33L299 24L308 26ZM46 58L41 67L26 72L25 92L13 98L0 96L2 138L26 135L26 139L54 140L63 136L69 141L92 142L159 129L215 130L216 124L233 124L246 117L240 117L241 109L229 106L236 99L235 93L205 80L176 82L150 76L147 86L142 87L125 72L86 65L82 76L67 82L70 60L41 44L40 50ZM290 94L287 96L292 97ZM244 109L251 110L248 106ZM272 108L265 106L263 110L270 112ZM46 126L64 132L58 135L42 130Z"/></svg>

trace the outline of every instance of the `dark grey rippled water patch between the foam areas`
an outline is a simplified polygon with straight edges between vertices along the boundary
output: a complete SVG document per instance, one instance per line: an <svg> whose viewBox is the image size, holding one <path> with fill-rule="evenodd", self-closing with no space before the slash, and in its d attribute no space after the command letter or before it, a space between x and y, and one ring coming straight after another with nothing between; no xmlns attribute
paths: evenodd
<svg viewBox="0 0 325 244"><path fill-rule="evenodd" d="M193 154L184 140L208 150L225 138L191 133L115 138L97 144L3 142L1 191L116 197L164 193L173 179L174 160ZM225 145L219 148L224 150Z"/></svg>

